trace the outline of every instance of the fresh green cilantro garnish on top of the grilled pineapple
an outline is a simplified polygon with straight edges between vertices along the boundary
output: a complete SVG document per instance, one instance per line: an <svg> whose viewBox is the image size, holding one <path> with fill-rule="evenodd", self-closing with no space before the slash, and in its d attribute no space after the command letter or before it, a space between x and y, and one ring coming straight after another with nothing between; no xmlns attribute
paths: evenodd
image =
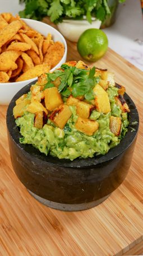
<svg viewBox="0 0 143 256"><path fill-rule="evenodd" d="M61 70L47 73L48 82L44 90L53 87L53 81L58 77L60 78L58 91L62 96L68 98L72 94L73 97L84 96L86 100L94 99L93 88L100 80L99 77L95 77L95 67L87 70L63 64Z"/></svg>

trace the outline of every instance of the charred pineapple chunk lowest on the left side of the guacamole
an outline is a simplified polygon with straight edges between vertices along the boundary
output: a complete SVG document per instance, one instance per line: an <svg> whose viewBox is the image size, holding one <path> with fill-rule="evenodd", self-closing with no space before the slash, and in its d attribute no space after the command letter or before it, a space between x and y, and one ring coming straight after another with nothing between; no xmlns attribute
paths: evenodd
<svg viewBox="0 0 143 256"><path fill-rule="evenodd" d="M44 111L35 113L34 127L42 129L45 123L47 123L47 114Z"/></svg>

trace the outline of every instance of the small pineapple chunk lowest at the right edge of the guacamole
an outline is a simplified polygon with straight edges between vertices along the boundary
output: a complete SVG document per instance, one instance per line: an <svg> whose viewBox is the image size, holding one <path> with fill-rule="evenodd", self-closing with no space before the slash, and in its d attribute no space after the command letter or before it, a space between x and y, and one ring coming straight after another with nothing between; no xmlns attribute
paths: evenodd
<svg viewBox="0 0 143 256"><path fill-rule="evenodd" d="M110 131L112 131L114 135L119 136L121 133L121 125L122 122L120 117L110 117Z"/></svg>

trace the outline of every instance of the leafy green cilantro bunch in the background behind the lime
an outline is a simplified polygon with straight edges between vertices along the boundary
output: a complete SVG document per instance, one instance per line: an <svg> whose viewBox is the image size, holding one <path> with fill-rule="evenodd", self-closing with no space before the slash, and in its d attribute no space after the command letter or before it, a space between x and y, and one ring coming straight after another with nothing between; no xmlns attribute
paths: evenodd
<svg viewBox="0 0 143 256"><path fill-rule="evenodd" d="M125 2L126 0L115 0ZM57 24L63 19L83 19L91 23L91 17L96 17L102 22L107 16L112 15L113 6L109 5L110 0L20 0L25 3L24 11L19 14L23 18L41 20L49 16L50 20ZM113 2L113 1L112 1Z"/></svg>

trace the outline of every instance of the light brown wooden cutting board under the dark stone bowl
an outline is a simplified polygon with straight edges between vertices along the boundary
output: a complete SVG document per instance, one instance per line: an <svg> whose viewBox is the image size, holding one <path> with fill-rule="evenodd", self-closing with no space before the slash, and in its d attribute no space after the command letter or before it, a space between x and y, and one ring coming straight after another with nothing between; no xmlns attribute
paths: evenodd
<svg viewBox="0 0 143 256"><path fill-rule="evenodd" d="M76 45L68 42L67 60L80 59ZM143 252L142 72L110 49L96 67L116 74L116 82L126 86L140 113L140 131L126 180L102 205L90 210L70 213L41 205L29 195L12 169L7 107L0 106L0 255Z"/></svg>

